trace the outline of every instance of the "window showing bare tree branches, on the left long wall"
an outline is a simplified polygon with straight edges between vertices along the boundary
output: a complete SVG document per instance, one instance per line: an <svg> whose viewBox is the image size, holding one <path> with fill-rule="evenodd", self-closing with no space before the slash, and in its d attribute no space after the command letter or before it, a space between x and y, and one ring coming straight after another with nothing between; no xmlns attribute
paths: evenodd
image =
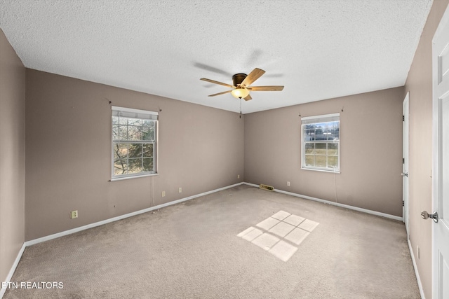
<svg viewBox="0 0 449 299"><path fill-rule="evenodd" d="M112 180L156 174L158 113L112 106Z"/></svg>

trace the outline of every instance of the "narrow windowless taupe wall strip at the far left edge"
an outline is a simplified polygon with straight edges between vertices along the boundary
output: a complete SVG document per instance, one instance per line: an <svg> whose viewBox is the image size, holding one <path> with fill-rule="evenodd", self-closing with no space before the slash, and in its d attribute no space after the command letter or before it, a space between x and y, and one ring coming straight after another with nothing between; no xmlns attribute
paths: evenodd
<svg viewBox="0 0 449 299"><path fill-rule="evenodd" d="M25 67L0 29L0 281L25 228Z"/></svg>

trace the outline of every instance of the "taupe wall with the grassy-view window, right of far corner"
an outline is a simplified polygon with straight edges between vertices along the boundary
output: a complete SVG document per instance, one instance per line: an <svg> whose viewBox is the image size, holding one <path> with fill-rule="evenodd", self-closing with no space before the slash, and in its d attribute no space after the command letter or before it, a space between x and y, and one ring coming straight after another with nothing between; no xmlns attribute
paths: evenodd
<svg viewBox="0 0 449 299"><path fill-rule="evenodd" d="M392 88L246 114L245 181L402 216L402 100ZM341 173L302 170L299 115L338 112Z"/></svg>

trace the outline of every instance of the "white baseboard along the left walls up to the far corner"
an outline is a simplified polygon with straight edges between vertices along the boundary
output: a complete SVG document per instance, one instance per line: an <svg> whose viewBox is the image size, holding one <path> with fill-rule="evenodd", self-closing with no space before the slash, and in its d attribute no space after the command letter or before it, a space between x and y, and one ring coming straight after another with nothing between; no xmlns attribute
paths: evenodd
<svg viewBox="0 0 449 299"><path fill-rule="evenodd" d="M121 216L116 216L114 218L109 218L109 219L106 219L106 220L103 220L103 221L98 221L98 222L91 223L91 224L88 224L88 225L83 225L83 226L80 226L79 228L72 228L72 230L65 230L63 232L58 232L58 233L53 234L53 235L49 235L49 236L46 236L46 237L41 237L41 238L38 238L38 239L32 239L30 241L27 241L27 242L23 243L22 248L20 249L17 258L15 258L13 266L11 267L11 270L9 271L8 276L6 277L6 280L4 282L10 282L11 281L11 277L13 277L13 274L15 272L15 268L17 267L17 265L18 265L18 263L20 261L20 258L22 258L23 251L25 251L25 247L27 247L27 246L31 246L31 245L34 245L34 244L45 242L45 241L48 241L48 240L51 240L51 239L56 239L58 237L71 235L71 234L73 234L75 232L80 232L81 230L88 230L89 228L95 228L96 226L100 226L100 225L103 225L103 224L106 224L106 223L111 223L111 222L114 222L114 221L119 221L119 220L124 219L124 218L128 218L128 217L135 216L135 215L138 215L138 214L147 213L148 211L153 211L155 209L161 209L163 207L168 207L170 205L178 204L180 202L185 202L187 200L193 200L196 197L208 195L208 194L215 193L215 192L218 192L218 191L221 191L221 190L226 190L226 189L229 189L229 188L240 186L242 184L243 183L234 183L234 185L218 188L218 189L215 189L215 190L210 190L210 191L207 191L207 192L204 192L204 193L200 193L200 194L196 194L196 195L192 195L192 196L189 196L189 197L184 197L184 198L181 198L180 200L173 200L173 202L166 202L165 204L159 204L157 206L149 207L147 209L142 209L140 211L133 211L132 213L124 214L124 215L121 215ZM0 299L3 298L3 295L4 295L5 292L6 292L6 288L0 288Z"/></svg>

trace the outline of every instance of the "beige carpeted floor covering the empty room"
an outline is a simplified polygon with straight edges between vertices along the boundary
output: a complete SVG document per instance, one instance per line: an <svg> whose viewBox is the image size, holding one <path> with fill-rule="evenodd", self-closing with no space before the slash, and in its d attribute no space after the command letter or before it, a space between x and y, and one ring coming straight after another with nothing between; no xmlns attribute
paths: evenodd
<svg viewBox="0 0 449 299"><path fill-rule="evenodd" d="M257 223L279 211L319 223L277 236L286 261L239 235L273 240ZM29 246L11 281L63 287L4 298L420 298L400 221L244 185Z"/></svg>

